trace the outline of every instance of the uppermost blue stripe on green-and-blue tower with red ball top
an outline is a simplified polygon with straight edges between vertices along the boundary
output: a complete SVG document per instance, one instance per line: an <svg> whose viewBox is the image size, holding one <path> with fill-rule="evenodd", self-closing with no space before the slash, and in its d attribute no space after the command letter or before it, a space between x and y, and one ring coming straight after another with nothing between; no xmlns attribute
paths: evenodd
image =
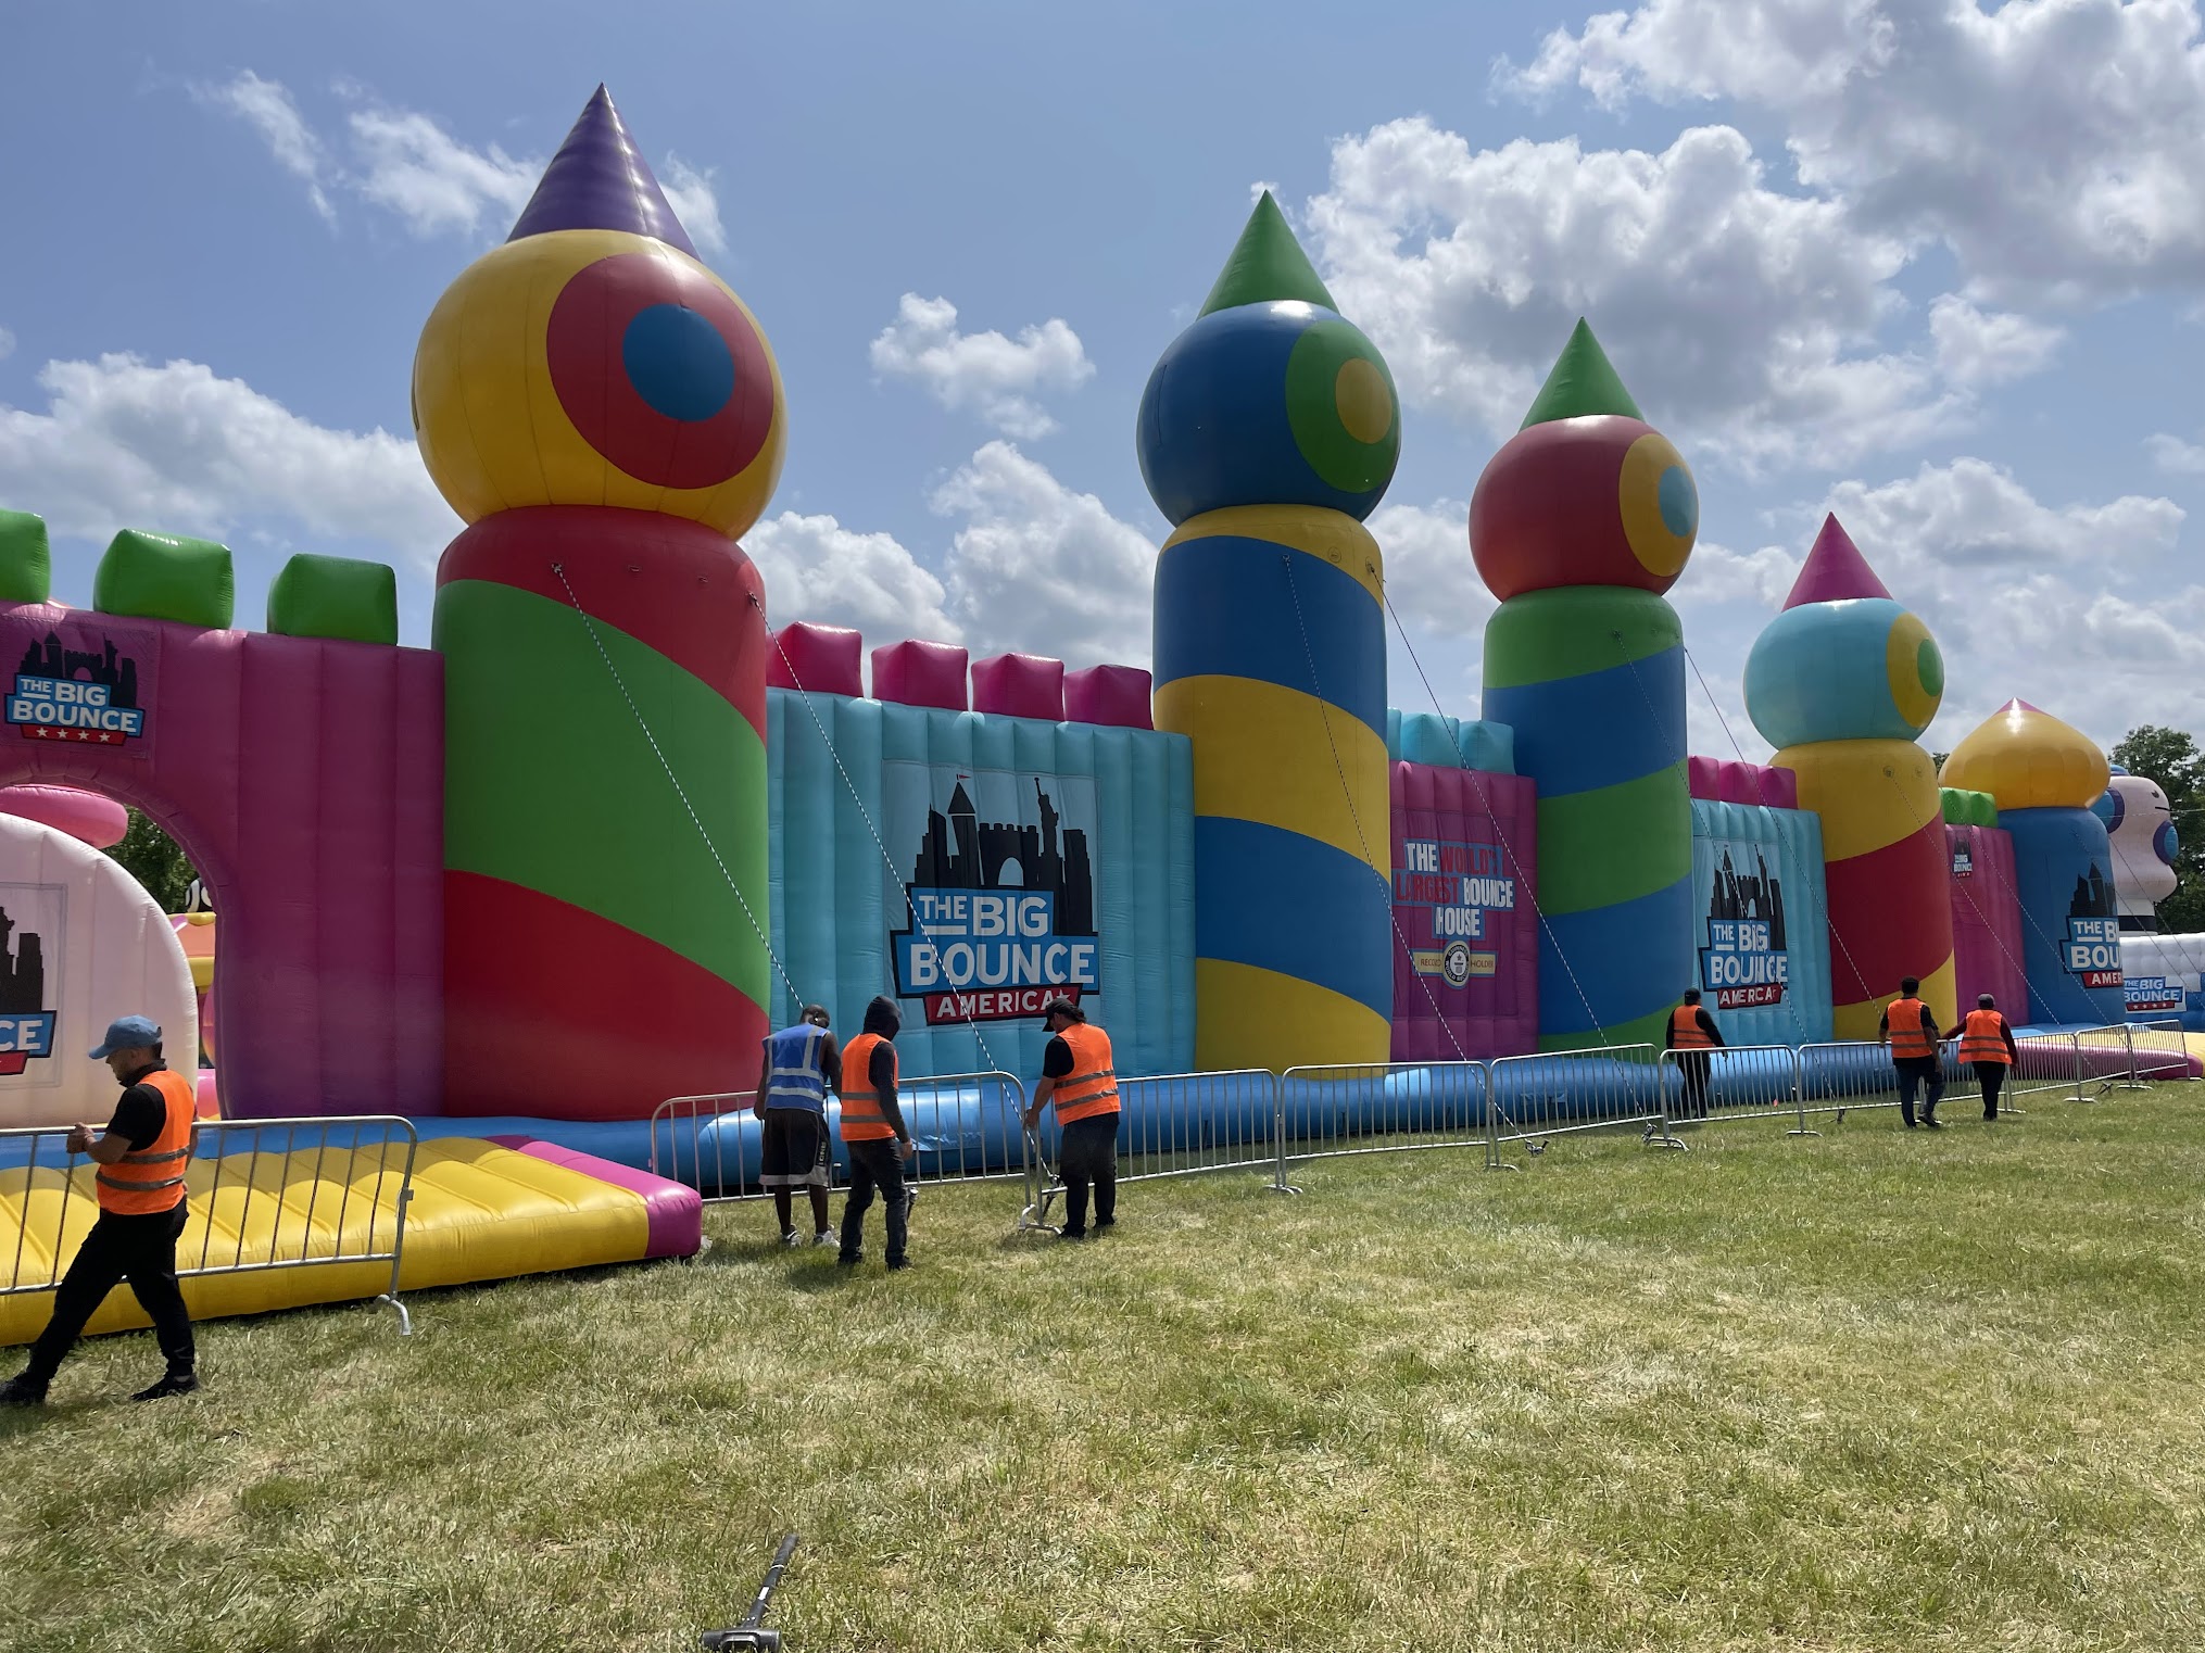
<svg viewBox="0 0 2205 1653"><path fill-rule="evenodd" d="M1537 776L1541 798L1638 780L1685 758L1685 650L1488 688L1484 714L1515 730L1517 774Z"/></svg>

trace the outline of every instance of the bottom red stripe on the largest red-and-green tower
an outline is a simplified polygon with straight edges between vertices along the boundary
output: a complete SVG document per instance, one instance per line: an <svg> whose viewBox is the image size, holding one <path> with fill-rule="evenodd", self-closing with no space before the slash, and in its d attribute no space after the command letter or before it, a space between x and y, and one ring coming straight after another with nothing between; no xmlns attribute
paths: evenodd
<svg viewBox="0 0 2205 1653"><path fill-rule="evenodd" d="M448 871L443 901L445 1113L646 1120L756 1084L765 1012L710 970L505 879Z"/></svg>

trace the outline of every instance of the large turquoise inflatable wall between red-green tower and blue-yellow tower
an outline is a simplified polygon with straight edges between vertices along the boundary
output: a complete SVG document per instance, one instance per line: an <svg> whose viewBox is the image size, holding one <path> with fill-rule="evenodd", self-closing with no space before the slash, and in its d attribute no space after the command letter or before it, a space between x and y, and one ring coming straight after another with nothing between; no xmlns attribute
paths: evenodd
<svg viewBox="0 0 2205 1653"><path fill-rule="evenodd" d="M1076 996L1120 1073L1195 1058L1186 736L767 690L774 952L842 1038L897 998L904 1073L1041 1073Z"/></svg>

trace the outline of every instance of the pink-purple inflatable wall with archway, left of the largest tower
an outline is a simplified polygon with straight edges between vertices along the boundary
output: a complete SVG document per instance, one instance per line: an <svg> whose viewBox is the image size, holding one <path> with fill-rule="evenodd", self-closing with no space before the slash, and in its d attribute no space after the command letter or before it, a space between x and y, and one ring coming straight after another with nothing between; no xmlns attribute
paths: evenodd
<svg viewBox="0 0 2205 1653"><path fill-rule="evenodd" d="M0 604L0 785L154 818L223 915L232 1117L443 1106L443 657Z"/></svg>

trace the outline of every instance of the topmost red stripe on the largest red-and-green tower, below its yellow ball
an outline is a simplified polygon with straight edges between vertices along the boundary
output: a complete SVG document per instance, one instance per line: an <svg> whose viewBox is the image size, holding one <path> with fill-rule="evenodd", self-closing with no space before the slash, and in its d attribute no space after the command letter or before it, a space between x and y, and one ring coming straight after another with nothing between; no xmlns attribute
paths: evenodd
<svg viewBox="0 0 2205 1653"><path fill-rule="evenodd" d="M564 569L564 584L551 564ZM765 582L743 547L701 522L609 505L525 505L485 516L445 547L437 584L454 580L580 602L710 683L765 738Z"/></svg>

